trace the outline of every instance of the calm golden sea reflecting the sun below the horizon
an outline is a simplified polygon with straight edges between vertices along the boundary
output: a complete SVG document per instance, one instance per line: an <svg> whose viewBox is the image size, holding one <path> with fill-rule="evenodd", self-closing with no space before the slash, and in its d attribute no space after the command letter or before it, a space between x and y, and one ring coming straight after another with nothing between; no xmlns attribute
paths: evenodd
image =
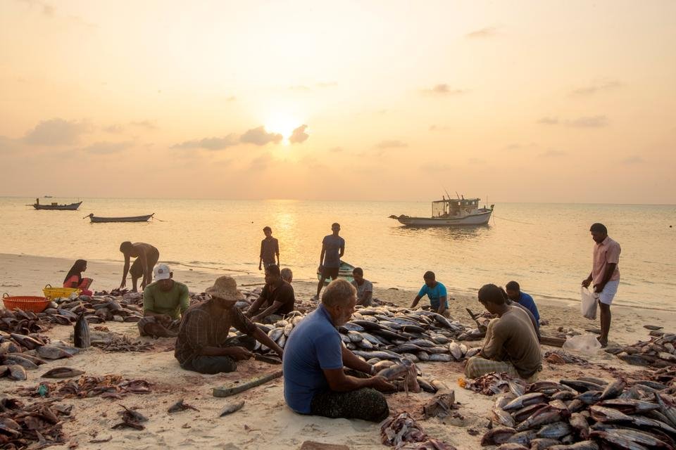
<svg viewBox="0 0 676 450"><path fill-rule="evenodd" d="M592 268L589 226L601 221L622 246L618 304L672 308L676 300L676 206L497 204L489 226L411 229L389 214L430 215L429 203L84 198L79 211L35 211L33 198L0 198L0 252L121 261L123 240L146 242L163 262L258 272L263 226L280 240L282 266L315 279L321 241L342 226L344 260L389 288L420 288L432 270L448 288L472 291L516 280L535 297L579 300ZM41 199L42 203L76 199ZM156 213L142 224L82 219ZM673 228L670 228L673 226ZM451 294L452 295L452 294Z"/></svg>

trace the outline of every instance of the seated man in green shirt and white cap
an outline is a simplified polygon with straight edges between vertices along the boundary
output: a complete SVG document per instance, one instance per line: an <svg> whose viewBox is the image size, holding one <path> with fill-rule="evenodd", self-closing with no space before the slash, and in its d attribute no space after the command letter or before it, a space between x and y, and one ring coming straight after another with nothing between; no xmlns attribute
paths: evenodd
<svg viewBox="0 0 676 450"><path fill-rule="evenodd" d="M139 334L154 338L175 338L181 314L190 306L187 285L173 280L167 264L153 269L155 282L143 290L143 318L138 321Z"/></svg>

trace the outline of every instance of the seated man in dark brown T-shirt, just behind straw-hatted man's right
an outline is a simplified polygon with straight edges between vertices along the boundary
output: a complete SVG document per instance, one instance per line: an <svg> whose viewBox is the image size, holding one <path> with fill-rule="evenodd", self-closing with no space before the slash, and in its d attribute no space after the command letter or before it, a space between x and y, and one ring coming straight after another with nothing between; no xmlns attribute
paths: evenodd
<svg viewBox="0 0 676 450"><path fill-rule="evenodd" d="M251 318L253 322L273 323L281 320L284 314L293 311L295 303L294 288L282 280L280 266L271 264L265 267L263 292L246 311L246 316ZM261 308L263 311L259 311Z"/></svg>

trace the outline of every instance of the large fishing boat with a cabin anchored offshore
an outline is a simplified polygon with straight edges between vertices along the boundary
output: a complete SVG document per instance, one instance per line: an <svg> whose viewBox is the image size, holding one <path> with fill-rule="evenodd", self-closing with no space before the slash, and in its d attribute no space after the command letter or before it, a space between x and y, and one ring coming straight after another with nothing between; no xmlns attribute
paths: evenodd
<svg viewBox="0 0 676 450"><path fill-rule="evenodd" d="M432 217L390 216L408 226L477 226L491 218L493 207L479 207L480 198L445 198L432 202Z"/></svg>

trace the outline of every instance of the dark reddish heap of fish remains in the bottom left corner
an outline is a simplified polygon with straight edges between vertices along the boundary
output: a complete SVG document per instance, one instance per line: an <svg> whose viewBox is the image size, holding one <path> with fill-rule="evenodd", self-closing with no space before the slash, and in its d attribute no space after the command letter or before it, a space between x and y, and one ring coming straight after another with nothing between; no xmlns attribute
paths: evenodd
<svg viewBox="0 0 676 450"><path fill-rule="evenodd" d="M65 442L61 427L72 408L54 401L24 406L17 399L0 399L0 448L42 449Z"/></svg>

